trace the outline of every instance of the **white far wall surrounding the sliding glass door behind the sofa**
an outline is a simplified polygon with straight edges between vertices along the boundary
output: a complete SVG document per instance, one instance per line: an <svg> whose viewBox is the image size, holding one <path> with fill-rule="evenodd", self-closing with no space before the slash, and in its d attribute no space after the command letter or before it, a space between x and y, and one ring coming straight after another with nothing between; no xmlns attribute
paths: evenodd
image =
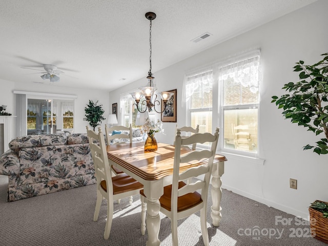
<svg viewBox="0 0 328 246"><path fill-rule="evenodd" d="M103 128L107 122L108 114L112 112L112 108L109 105L109 92L104 90L57 87L56 85L35 85L32 83L14 83L5 80L0 80L0 88L0 105L7 105L6 112L12 115L16 113L14 90L77 95L77 98L74 99L74 133L86 133L86 126L89 125L89 122L84 121L83 118L85 118L84 109L89 103L89 99L94 102L98 100L98 104L103 105L105 111L104 117L106 118L101 124Z"/></svg>

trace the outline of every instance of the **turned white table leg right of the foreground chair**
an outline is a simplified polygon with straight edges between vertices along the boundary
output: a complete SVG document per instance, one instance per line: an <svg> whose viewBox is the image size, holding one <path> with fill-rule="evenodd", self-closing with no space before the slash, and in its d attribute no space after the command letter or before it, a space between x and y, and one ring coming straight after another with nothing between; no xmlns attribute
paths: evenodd
<svg viewBox="0 0 328 246"><path fill-rule="evenodd" d="M224 161L220 161L217 163L213 163L213 170L212 170L212 223L213 226L218 227L220 224L220 220L222 218L221 215L221 196L222 196L222 190L221 190L221 176L224 173Z"/></svg>

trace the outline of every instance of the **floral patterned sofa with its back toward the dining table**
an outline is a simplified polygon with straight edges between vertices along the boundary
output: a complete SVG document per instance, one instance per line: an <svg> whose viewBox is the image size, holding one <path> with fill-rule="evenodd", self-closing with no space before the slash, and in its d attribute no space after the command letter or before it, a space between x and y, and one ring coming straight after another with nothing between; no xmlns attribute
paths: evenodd
<svg viewBox="0 0 328 246"><path fill-rule="evenodd" d="M96 183L87 134L23 136L0 156L8 201Z"/></svg>

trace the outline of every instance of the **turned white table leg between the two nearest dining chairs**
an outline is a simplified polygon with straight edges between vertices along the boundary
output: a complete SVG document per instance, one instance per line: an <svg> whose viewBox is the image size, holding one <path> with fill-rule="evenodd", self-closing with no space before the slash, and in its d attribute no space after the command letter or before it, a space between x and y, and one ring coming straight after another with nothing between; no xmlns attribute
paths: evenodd
<svg viewBox="0 0 328 246"><path fill-rule="evenodd" d="M160 203L158 199L147 198L147 231L148 231L148 241L147 246L159 246L160 241L158 239L160 217L159 209Z"/></svg>

